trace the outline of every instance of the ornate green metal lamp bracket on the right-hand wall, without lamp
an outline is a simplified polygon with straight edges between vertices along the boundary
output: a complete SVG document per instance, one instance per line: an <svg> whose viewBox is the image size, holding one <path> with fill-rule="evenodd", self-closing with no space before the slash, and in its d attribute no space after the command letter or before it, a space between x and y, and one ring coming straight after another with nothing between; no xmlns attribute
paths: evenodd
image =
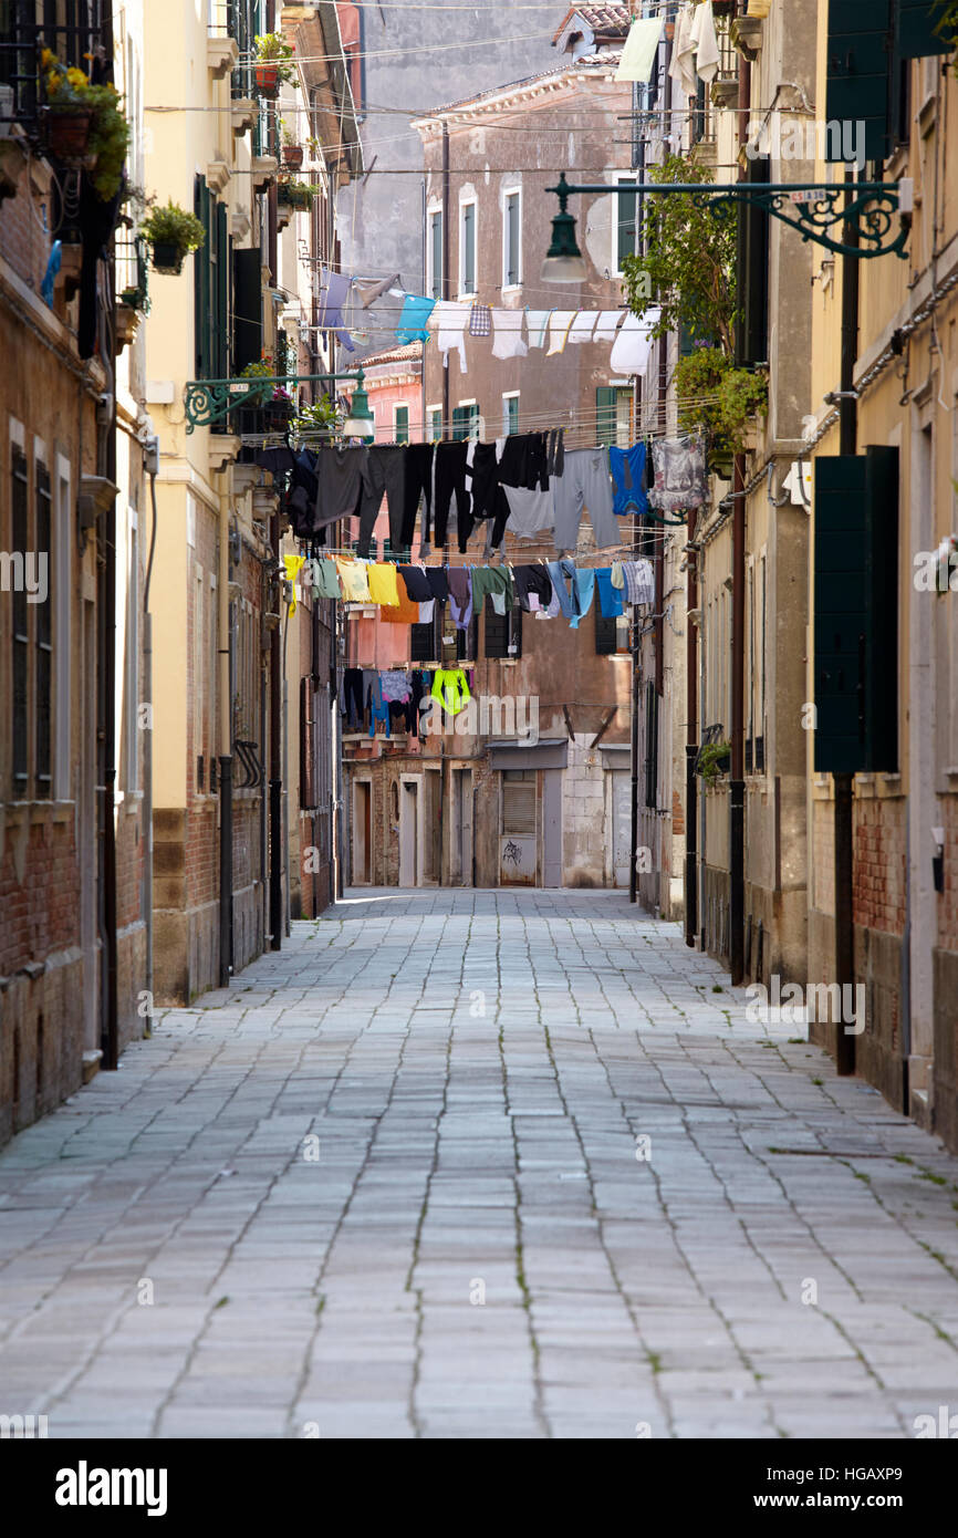
<svg viewBox="0 0 958 1538"><path fill-rule="evenodd" d="M733 206L737 203L752 203L755 208L772 214L784 225L797 229L803 240L812 240L817 246L826 246L844 257L884 257L895 252L906 255L906 243L912 228L912 181L607 181L574 186L560 175L558 186L547 188L555 192L560 208L566 209L566 198L575 192L614 192L617 197L626 194L649 194L652 197L684 194L690 197L697 208L709 203L717 206ZM893 217L898 214L900 228L893 231ZM850 246L843 240L833 240L826 234L833 225L850 225L858 232L858 245ZM893 235L893 238L890 238Z"/></svg>

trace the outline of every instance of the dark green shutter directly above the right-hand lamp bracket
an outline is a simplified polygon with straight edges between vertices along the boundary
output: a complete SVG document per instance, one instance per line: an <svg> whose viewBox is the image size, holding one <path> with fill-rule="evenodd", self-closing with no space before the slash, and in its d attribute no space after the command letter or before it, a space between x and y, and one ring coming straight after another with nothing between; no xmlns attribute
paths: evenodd
<svg viewBox="0 0 958 1538"><path fill-rule="evenodd" d="M843 160L864 123L864 158L884 160L889 138L890 0L829 0L826 118L837 125L827 135L826 160Z"/></svg>

